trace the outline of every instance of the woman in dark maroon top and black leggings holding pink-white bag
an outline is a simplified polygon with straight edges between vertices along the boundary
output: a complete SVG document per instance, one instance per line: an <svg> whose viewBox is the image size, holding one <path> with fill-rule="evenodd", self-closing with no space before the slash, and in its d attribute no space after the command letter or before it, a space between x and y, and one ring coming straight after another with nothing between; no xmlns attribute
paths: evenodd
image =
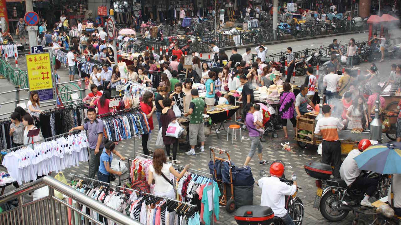
<svg viewBox="0 0 401 225"><path fill-rule="evenodd" d="M168 137L166 136L166 131L168 128L168 125L170 123L177 123L176 121L176 116L174 111L171 109L172 106L172 100L168 97L163 98L163 106L164 108L162 109L161 115L160 115L160 124L162 126L162 137L163 137L163 143L166 146L166 152L169 160L172 160L173 164L180 163L176 159L177 156L177 150L178 150L178 138L175 137ZM173 157L170 157L170 145L173 145L172 153Z"/></svg>

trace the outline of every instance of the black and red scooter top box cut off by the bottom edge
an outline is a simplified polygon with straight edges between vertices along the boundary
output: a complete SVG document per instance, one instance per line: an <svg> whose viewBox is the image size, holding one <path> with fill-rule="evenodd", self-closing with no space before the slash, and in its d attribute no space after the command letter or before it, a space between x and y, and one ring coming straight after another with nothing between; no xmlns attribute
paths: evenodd
<svg viewBox="0 0 401 225"><path fill-rule="evenodd" d="M260 205L245 205L235 212L234 219L239 225L269 225L274 213L270 207Z"/></svg>

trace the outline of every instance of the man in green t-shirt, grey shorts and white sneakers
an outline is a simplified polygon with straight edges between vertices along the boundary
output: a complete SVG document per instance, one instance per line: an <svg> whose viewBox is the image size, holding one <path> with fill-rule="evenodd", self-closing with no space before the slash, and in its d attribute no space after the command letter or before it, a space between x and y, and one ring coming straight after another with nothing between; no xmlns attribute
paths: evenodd
<svg viewBox="0 0 401 225"><path fill-rule="evenodd" d="M206 114L206 104L202 98L199 98L197 89L191 90L192 100L189 104L189 110L184 114L185 117L191 115L189 122L189 145L191 150L186 155L195 155L195 145L201 141L201 152L205 151L205 129L203 125L203 113Z"/></svg>

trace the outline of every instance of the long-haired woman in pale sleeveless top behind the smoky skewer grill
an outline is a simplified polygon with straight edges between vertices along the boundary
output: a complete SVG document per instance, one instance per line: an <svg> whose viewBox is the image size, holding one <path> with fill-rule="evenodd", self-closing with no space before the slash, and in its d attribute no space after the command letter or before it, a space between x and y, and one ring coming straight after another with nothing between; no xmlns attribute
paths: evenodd
<svg viewBox="0 0 401 225"><path fill-rule="evenodd" d="M365 127L368 127L368 116L366 113L366 106L364 102L364 97L361 95L356 96L354 100L352 100L352 105L348 107L348 112L346 117L348 119L348 129L359 128L362 127L362 119L365 117L366 123Z"/></svg>

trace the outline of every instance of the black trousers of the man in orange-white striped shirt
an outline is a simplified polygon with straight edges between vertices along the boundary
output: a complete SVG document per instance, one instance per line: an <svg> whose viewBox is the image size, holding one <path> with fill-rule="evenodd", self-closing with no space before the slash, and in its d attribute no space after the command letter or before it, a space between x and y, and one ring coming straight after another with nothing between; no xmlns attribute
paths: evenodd
<svg viewBox="0 0 401 225"><path fill-rule="evenodd" d="M324 141L322 144L322 163L334 166L334 178L340 178L341 143L340 141Z"/></svg>

